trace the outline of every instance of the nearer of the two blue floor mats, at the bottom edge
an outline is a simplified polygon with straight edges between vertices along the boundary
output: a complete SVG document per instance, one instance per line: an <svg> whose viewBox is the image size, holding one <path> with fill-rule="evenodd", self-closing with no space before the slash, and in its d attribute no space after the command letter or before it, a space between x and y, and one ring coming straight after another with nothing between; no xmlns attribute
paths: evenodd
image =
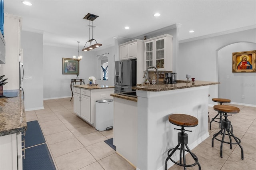
<svg viewBox="0 0 256 170"><path fill-rule="evenodd" d="M46 144L26 149L23 170L56 170Z"/></svg>

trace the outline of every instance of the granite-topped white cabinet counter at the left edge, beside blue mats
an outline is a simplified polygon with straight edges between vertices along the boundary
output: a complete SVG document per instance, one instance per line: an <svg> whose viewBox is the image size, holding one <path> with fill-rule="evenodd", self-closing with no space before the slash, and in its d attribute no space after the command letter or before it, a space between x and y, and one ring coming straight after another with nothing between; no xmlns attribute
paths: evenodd
<svg viewBox="0 0 256 170"><path fill-rule="evenodd" d="M0 99L0 169L22 167L21 133L27 128L22 91ZM22 169L22 168L19 168Z"/></svg>

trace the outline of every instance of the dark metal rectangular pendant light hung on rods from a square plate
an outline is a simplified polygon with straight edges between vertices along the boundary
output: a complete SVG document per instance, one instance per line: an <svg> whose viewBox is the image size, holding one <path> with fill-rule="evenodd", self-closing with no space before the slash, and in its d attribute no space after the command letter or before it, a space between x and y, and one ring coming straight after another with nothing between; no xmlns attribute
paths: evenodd
<svg viewBox="0 0 256 170"><path fill-rule="evenodd" d="M89 38L90 40L88 40L85 45L84 45L84 49L82 49L82 51L90 51L91 49L97 48L102 46L101 43L97 43L97 41L95 39L93 39L93 24L91 25L91 21L93 22L96 18L98 18L98 16L94 15L94 14L90 14L88 13L84 19L89 20ZM92 27L92 39L91 39L91 28ZM92 45L92 42L95 41L96 43L94 45ZM87 43L90 43L89 47L85 47Z"/></svg>

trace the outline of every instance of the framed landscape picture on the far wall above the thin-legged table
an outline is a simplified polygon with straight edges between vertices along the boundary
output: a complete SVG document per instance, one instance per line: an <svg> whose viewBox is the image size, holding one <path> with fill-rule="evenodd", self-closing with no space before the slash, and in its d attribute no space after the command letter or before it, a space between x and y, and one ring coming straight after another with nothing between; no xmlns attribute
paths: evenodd
<svg viewBox="0 0 256 170"><path fill-rule="evenodd" d="M62 74L79 75L79 61L73 58L62 58Z"/></svg>

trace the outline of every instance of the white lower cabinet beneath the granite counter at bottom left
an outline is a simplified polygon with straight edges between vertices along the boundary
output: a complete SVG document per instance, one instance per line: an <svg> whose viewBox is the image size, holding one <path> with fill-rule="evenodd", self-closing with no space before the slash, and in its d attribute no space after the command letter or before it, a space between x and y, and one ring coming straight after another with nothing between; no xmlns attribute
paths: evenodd
<svg viewBox="0 0 256 170"><path fill-rule="evenodd" d="M21 132L0 136L0 170L22 170Z"/></svg>

